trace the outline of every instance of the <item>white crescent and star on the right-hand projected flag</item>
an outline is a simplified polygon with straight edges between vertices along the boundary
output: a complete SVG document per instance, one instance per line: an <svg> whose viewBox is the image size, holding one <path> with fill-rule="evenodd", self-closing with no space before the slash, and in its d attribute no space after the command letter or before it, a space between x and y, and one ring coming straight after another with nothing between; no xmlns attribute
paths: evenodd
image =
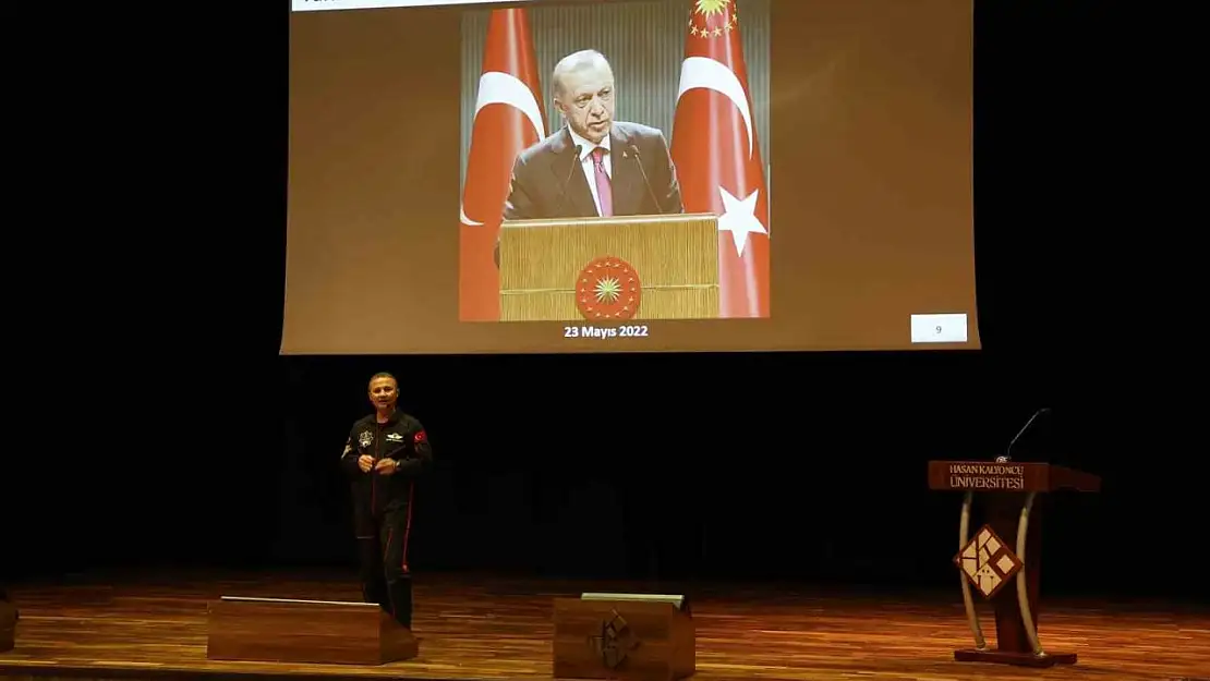
<svg viewBox="0 0 1210 681"><path fill-rule="evenodd" d="M748 131L748 158L751 160L756 151L753 140L753 114L748 106L748 96L744 93L744 85L730 67L716 59L708 57L687 57L681 64L680 88L676 92L676 102L691 90L713 90L726 97L736 105L744 127ZM719 186L719 195L722 197L722 215L719 217L719 231L731 232L736 243L736 253L744 254L744 246L748 244L748 235L761 233L768 236L768 230L756 219L756 200L760 190L755 190L743 198L738 198L730 191Z"/></svg>

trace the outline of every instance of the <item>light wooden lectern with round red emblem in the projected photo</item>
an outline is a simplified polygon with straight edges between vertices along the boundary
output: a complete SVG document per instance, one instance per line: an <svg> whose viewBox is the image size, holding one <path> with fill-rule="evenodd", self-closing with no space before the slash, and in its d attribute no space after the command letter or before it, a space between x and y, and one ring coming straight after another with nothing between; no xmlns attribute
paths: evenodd
<svg viewBox="0 0 1210 681"><path fill-rule="evenodd" d="M714 214L506 220L502 322L714 319Z"/></svg>

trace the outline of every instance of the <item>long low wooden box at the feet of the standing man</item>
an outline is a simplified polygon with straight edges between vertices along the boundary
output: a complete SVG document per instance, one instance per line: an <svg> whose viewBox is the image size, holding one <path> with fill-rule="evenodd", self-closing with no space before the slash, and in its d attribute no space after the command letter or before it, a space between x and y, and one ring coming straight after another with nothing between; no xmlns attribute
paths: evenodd
<svg viewBox="0 0 1210 681"><path fill-rule="evenodd" d="M373 604L223 596L209 606L209 659L376 665L417 652L411 631Z"/></svg>

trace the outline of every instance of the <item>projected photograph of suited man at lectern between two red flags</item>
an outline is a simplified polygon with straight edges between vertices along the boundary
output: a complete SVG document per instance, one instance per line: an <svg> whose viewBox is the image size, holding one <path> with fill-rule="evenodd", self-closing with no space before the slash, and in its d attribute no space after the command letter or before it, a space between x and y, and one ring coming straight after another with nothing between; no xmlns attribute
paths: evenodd
<svg viewBox="0 0 1210 681"><path fill-rule="evenodd" d="M459 318L770 317L768 12L466 12Z"/></svg>

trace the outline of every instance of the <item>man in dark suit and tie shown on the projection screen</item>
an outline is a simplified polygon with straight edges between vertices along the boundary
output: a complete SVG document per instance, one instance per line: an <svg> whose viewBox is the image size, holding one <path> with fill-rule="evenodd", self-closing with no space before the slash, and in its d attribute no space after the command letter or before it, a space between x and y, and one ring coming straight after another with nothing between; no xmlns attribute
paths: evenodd
<svg viewBox="0 0 1210 681"><path fill-rule="evenodd" d="M663 133L613 120L613 70L600 52L564 57L552 85L567 125L518 155L506 220L685 212Z"/></svg>

